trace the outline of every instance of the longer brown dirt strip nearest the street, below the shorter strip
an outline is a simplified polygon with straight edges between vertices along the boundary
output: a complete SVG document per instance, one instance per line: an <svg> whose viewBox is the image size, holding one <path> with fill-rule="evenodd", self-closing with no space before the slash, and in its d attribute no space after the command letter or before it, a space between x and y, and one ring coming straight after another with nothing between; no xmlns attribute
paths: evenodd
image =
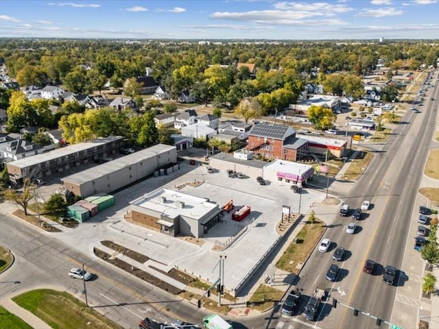
<svg viewBox="0 0 439 329"><path fill-rule="evenodd" d="M160 280L160 279L156 278L155 276L152 276L150 273L146 273L145 271L142 271L141 269L137 269L135 267L132 267L130 264L124 262L123 260L121 260L119 258L111 258L110 254L107 254L106 252L102 251L101 249L94 247L93 253L97 257L105 260L106 262L119 267L119 269L123 269L123 271L126 271L126 272L132 274L133 276L137 276L137 278L139 278L145 282L148 282L148 283L154 285L155 287L158 287L159 289L167 291L168 293L171 293L173 295L179 295L180 293L183 292L183 290L178 289L177 287L174 287L173 285L171 285L163 280Z"/></svg>

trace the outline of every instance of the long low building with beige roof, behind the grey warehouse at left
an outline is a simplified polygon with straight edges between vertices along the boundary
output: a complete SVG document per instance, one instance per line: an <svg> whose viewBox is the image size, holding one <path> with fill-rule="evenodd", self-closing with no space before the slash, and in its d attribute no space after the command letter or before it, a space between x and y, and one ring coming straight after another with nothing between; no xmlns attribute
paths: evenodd
<svg viewBox="0 0 439 329"><path fill-rule="evenodd" d="M93 162L102 156L115 154L124 145L122 136L108 136L93 141L78 143L54 149L8 163L8 173L14 182L19 182L29 175L45 178L64 170L78 167L80 164Z"/></svg>

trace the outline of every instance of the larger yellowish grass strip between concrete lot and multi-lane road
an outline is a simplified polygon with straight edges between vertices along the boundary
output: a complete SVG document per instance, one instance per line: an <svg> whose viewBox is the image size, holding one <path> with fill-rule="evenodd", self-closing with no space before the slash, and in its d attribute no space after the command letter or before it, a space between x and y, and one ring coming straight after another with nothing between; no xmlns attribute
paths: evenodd
<svg viewBox="0 0 439 329"><path fill-rule="evenodd" d="M313 228L311 228L311 223L307 222L297 234L297 243L293 242L287 247L276 263L276 267L298 274L300 269L297 268L297 265L305 263L318 241L320 241L323 232L324 223L318 221L318 219L313 223Z"/></svg>

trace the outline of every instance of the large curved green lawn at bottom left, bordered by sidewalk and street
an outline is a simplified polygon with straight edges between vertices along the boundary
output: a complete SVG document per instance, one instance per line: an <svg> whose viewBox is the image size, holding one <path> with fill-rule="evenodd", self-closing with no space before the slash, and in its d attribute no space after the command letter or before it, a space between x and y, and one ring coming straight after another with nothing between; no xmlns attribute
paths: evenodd
<svg viewBox="0 0 439 329"><path fill-rule="evenodd" d="M51 289L28 291L12 299L55 329L121 328L69 293ZM1 327L8 328L8 327Z"/></svg>

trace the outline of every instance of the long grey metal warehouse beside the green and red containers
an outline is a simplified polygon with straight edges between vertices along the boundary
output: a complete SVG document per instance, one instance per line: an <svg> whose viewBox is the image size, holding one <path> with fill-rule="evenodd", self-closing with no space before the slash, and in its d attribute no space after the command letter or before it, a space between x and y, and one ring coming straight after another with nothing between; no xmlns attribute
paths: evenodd
<svg viewBox="0 0 439 329"><path fill-rule="evenodd" d="M62 184L79 197L113 191L141 180L159 169L177 170L175 146L154 145L117 160L86 169L61 179Z"/></svg>

